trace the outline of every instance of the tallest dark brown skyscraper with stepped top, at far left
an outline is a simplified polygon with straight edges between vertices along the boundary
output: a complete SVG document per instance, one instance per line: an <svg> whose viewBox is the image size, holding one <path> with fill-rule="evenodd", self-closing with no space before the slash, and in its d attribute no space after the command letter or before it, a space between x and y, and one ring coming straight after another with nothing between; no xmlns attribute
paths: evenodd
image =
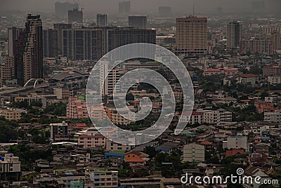
<svg viewBox="0 0 281 188"><path fill-rule="evenodd" d="M40 15L28 15L25 23L27 41L23 52L24 82L43 78L43 32Z"/></svg>

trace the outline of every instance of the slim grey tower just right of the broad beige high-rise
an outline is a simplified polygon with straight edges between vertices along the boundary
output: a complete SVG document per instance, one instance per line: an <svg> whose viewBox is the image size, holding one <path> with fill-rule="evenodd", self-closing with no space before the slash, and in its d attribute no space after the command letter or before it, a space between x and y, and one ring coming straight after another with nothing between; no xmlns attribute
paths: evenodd
<svg viewBox="0 0 281 188"><path fill-rule="evenodd" d="M228 49L240 48L242 40L242 25L240 22L230 22L228 24Z"/></svg>

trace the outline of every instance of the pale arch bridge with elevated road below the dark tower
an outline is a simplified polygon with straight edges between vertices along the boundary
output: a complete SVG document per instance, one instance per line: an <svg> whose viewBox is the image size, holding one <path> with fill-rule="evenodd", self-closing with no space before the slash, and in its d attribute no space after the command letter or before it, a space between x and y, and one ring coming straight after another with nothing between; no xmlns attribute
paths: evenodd
<svg viewBox="0 0 281 188"><path fill-rule="evenodd" d="M13 88L11 90L4 90L0 92L0 95L7 95L11 93L17 93L22 90L37 89L37 88L47 88L49 86L48 81L44 79L30 79L25 83L23 87Z"/></svg>

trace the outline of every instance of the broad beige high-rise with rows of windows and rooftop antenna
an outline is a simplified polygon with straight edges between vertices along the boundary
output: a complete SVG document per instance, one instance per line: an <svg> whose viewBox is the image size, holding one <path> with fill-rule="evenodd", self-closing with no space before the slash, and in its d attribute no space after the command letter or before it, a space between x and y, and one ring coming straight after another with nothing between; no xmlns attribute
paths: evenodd
<svg viewBox="0 0 281 188"><path fill-rule="evenodd" d="M176 18L176 53L207 54L207 18Z"/></svg>

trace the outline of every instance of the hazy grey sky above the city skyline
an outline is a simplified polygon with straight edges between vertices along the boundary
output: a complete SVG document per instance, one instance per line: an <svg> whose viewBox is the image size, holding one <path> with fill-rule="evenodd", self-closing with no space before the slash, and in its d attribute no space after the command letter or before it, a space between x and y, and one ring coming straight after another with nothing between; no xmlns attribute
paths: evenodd
<svg viewBox="0 0 281 188"><path fill-rule="evenodd" d="M0 0L0 11L22 10L22 11L54 11L57 0ZM67 1L67 0L59 0ZM73 2L72 0L68 0ZM84 11L95 13L117 13L118 2L122 0L76 0ZM218 6L225 12L249 11L251 1L262 0L131 0L132 12L155 12L158 6L171 6L173 12L192 13L192 5L195 12L209 13L216 11ZM263 0L266 2L267 11L276 11L281 7L281 0Z"/></svg>

